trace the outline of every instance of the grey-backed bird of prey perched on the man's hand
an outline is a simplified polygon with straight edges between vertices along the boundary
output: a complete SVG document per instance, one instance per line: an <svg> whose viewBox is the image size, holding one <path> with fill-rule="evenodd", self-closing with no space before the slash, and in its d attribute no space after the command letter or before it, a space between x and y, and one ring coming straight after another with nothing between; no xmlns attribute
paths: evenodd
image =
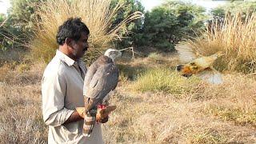
<svg viewBox="0 0 256 144"><path fill-rule="evenodd" d="M106 95L118 85L118 66L114 64L114 60L121 55L120 50L106 50L105 54L99 57L86 73L83 88L85 101L84 112L85 114L89 114L89 117L85 118L83 126L83 134L86 136L90 136L93 130L94 118L100 120L116 108L112 106L108 109L108 107L102 106L102 102ZM103 112L105 114L102 114Z"/></svg>

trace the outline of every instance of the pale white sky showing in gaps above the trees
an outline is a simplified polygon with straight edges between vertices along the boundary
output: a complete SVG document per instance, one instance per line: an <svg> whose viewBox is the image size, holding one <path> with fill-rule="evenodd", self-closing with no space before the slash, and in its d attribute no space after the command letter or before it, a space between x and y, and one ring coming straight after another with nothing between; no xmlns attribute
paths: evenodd
<svg viewBox="0 0 256 144"><path fill-rule="evenodd" d="M7 9L10 7L10 0L0 0L0 13L6 14ZM142 2L142 5L145 7L145 10L151 10L154 6L159 6L164 2L164 0L140 0ZM225 1L211 1L211 0L184 0L193 2L197 5L206 7L207 10L210 10L211 8L214 8L219 5L223 5L226 2Z"/></svg>

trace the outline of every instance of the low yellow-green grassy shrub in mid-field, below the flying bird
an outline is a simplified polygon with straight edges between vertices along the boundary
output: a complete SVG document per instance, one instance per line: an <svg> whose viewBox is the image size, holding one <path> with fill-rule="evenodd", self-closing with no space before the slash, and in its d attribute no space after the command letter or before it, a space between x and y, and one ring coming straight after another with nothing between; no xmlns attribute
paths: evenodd
<svg viewBox="0 0 256 144"><path fill-rule="evenodd" d="M184 78L167 68L147 70L138 76L131 88L138 92L162 91L169 94L184 94L198 86L196 77ZM177 95L178 96L178 95Z"/></svg>

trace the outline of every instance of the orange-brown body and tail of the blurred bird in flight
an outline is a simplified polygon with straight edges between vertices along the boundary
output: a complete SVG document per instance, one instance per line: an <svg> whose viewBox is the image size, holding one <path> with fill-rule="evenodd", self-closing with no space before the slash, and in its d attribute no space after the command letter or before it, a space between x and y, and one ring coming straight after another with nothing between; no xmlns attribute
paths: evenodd
<svg viewBox="0 0 256 144"><path fill-rule="evenodd" d="M185 65L178 65L176 70L185 77L190 77L192 74L199 74L206 69L214 70L212 67L214 61L222 55L222 51L219 51L216 54L212 54L208 57L196 58L192 62L189 62Z"/></svg>

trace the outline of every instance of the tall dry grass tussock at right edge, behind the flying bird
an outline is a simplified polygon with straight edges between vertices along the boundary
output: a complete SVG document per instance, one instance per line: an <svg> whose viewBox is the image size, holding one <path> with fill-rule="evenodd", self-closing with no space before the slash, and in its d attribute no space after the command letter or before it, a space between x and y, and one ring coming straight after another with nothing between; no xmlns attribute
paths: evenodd
<svg viewBox="0 0 256 144"><path fill-rule="evenodd" d="M213 28L202 34L202 37L190 41L194 50L202 55L210 55L222 50L225 56L215 63L218 70L230 70L253 73L256 70L256 13L238 13L226 15L222 26L213 23Z"/></svg>

